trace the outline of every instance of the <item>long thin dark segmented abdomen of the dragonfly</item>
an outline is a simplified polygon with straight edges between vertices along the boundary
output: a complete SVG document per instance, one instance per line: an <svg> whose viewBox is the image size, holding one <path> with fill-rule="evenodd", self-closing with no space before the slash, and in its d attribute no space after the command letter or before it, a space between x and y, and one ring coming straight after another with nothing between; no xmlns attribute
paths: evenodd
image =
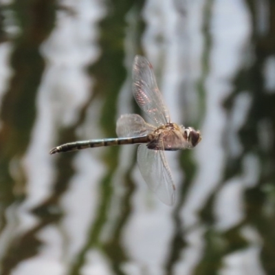
<svg viewBox="0 0 275 275"><path fill-rule="evenodd" d="M151 140L150 135L144 135L142 137L122 137L122 138L106 138L102 140L84 140L79 142L70 142L53 148L50 154L76 151L85 148L95 148L102 146L114 146L122 144L138 144L147 143Z"/></svg>

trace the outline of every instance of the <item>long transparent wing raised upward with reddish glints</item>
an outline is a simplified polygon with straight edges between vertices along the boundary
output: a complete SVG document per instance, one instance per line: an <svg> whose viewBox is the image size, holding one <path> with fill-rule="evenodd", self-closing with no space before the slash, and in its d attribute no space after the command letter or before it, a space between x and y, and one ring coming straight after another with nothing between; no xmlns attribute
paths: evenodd
<svg viewBox="0 0 275 275"><path fill-rule="evenodd" d="M169 111L157 88L153 67L143 56L135 56L133 96L140 108L157 126L170 122Z"/></svg>

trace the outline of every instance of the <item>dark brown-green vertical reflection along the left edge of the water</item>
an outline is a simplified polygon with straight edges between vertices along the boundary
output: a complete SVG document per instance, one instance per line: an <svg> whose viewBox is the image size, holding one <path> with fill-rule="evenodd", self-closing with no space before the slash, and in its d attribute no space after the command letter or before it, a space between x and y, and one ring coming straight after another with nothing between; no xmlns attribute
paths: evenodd
<svg viewBox="0 0 275 275"><path fill-rule="evenodd" d="M6 208L24 197L25 175L21 175L21 188L17 188L17 192L14 193L15 182L9 166L13 159L20 162L30 143L30 134L36 117L36 94L44 69L39 47L53 28L54 4L55 1L36 0L26 5L25 1L17 0L8 7L16 17L20 34L11 41L14 47L10 60L13 74L1 102L1 230L6 225ZM2 274L10 274L19 262L36 254L39 242L34 233L32 230L23 234L20 239L10 244L3 256Z"/></svg>

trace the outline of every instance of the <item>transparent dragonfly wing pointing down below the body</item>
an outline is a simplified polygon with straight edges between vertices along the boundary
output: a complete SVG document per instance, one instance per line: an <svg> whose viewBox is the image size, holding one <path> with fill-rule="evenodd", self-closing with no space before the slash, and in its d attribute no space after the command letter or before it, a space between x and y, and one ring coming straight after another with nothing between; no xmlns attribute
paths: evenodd
<svg viewBox="0 0 275 275"><path fill-rule="evenodd" d="M141 144L137 149L137 164L148 187L157 197L172 206L175 203L175 186L164 151L148 149Z"/></svg>

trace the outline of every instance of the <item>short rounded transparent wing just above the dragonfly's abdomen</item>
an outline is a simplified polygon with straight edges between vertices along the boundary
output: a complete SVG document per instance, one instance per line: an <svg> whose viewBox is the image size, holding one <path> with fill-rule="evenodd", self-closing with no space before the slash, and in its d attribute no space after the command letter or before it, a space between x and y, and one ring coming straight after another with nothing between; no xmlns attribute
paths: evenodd
<svg viewBox="0 0 275 275"><path fill-rule="evenodd" d="M118 137L140 137L155 130L155 126L148 124L140 115L135 113L121 115L116 122Z"/></svg>

